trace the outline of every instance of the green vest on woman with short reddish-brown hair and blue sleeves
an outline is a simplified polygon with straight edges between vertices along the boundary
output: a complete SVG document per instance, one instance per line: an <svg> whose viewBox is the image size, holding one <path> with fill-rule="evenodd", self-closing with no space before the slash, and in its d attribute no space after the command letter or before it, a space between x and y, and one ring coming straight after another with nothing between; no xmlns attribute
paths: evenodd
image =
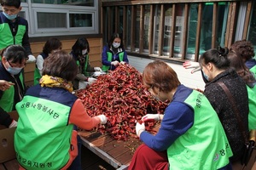
<svg viewBox="0 0 256 170"><path fill-rule="evenodd" d="M233 154L217 113L207 98L195 90L184 102L194 109L195 121L167 149L170 169L216 170L226 166Z"/></svg>

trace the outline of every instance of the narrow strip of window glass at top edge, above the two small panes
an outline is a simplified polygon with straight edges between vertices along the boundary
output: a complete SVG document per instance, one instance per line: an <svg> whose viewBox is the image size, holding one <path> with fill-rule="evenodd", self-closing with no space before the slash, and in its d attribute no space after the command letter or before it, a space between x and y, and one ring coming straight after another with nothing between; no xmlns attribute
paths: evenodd
<svg viewBox="0 0 256 170"><path fill-rule="evenodd" d="M93 7L94 0L32 0L32 3L61 4Z"/></svg>

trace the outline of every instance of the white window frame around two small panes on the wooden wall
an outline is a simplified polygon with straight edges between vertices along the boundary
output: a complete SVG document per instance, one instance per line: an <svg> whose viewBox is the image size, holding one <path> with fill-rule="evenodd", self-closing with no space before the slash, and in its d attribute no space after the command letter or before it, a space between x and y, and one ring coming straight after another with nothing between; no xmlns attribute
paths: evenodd
<svg viewBox="0 0 256 170"><path fill-rule="evenodd" d="M21 11L25 13L25 19L28 22L29 37L49 37L49 36L67 36L84 34L99 34L99 8L98 1L94 0L93 7L90 6L75 6L47 3L32 3L27 0L26 3L21 3ZM67 14L66 28L38 28L38 12L50 12ZM69 23L69 14L91 14L92 26L86 27L71 27Z"/></svg>

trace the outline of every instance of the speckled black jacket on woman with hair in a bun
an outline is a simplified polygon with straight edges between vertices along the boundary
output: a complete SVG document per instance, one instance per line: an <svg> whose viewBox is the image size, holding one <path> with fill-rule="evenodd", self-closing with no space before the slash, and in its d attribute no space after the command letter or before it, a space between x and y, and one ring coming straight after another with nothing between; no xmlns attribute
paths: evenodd
<svg viewBox="0 0 256 170"><path fill-rule="evenodd" d="M224 127L224 131L229 139L231 149L233 151L233 157L231 161L238 161L243 152L243 146L245 139L241 134L239 128L236 112L233 111L230 100L224 93L224 90L218 85L218 82L224 82L230 93L236 101L237 108L240 112L241 121L246 127L246 133L248 130L248 95L245 82L236 74L236 71L229 69L218 74L217 77L211 82L208 82L205 87L204 94L209 99L212 107L217 112L220 122Z"/></svg>

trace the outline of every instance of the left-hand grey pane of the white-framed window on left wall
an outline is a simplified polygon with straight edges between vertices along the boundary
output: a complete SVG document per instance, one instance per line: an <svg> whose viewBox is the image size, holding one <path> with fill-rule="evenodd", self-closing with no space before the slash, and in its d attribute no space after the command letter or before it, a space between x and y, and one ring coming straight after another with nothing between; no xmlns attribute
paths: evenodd
<svg viewBox="0 0 256 170"><path fill-rule="evenodd" d="M67 28L67 14L38 12L38 28Z"/></svg>

